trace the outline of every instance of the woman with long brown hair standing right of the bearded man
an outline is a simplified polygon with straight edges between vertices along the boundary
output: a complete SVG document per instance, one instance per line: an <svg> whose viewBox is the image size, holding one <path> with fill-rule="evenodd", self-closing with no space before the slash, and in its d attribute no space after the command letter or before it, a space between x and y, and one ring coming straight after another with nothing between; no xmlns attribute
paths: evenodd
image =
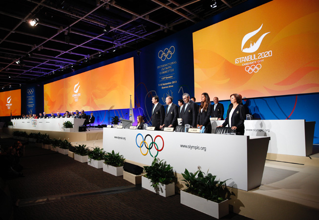
<svg viewBox="0 0 319 220"><path fill-rule="evenodd" d="M197 128L202 129L205 126L205 133L212 133L211 112L212 104L210 96L204 92L201 96L201 104L197 115Z"/></svg>

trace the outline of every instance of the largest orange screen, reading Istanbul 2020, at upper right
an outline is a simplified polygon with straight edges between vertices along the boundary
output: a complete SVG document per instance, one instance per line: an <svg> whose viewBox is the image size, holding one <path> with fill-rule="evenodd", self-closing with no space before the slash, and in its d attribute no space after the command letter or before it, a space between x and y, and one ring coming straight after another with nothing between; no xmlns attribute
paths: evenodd
<svg viewBox="0 0 319 220"><path fill-rule="evenodd" d="M194 32L195 97L319 92L318 21L318 0L273 0Z"/></svg>

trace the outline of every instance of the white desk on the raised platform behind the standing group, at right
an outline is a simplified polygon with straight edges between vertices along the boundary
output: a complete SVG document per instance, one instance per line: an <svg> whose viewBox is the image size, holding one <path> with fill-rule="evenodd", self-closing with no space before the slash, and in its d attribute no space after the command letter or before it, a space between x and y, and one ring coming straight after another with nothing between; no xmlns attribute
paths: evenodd
<svg viewBox="0 0 319 220"><path fill-rule="evenodd" d="M224 121L213 121L212 132ZM316 122L305 120L245 120L245 135L271 137L268 153L312 154Z"/></svg>

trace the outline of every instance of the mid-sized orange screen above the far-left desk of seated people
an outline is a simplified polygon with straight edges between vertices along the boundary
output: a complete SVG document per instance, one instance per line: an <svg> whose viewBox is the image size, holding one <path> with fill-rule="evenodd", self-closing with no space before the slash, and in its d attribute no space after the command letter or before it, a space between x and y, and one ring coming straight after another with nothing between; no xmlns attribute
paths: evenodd
<svg viewBox="0 0 319 220"><path fill-rule="evenodd" d="M128 58L44 85L44 111L128 109L134 63Z"/></svg>

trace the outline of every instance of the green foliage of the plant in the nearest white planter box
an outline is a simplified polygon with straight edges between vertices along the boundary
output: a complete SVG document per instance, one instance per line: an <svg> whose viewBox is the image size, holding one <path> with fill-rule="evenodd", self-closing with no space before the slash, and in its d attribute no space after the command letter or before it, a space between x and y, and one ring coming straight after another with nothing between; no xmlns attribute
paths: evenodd
<svg viewBox="0 0 319 220"><path fill-rule="evenodd" d="M188 187L185 192L191 193L193 195L212 200L214 202L224 201L225 195L228 193L228 188L226 185L226 180L219 181L216 180L216 176L208 173L205 176L201 170L196 171L194 174L190 173L185 169L185 173L182 174L186 187ZM197 176L197 177L196 177Z"/></svg>

